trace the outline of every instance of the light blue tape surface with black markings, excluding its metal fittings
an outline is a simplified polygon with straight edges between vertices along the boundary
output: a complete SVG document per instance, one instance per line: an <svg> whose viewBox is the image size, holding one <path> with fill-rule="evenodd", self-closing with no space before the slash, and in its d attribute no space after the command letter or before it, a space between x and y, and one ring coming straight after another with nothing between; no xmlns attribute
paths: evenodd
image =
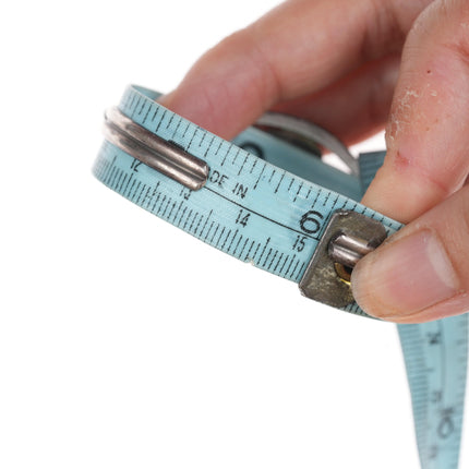
<svg viewBox="0 0 469 469"><path fill-rule="evenodd" d="M382 223L388 234L401 227L357 202L384 153L362 155L358 179L256 129L236 139L243 149L159 106L154 101L158 96L130 86L119 108L148 131L206 161L205 187L192 192L108 142L94 173L116 192L202 241L298 282L333 212L362 213ZM356 303L346 310L366 316ZM399 326L422 469L457 467L467 318L466 314Z"/></svg>

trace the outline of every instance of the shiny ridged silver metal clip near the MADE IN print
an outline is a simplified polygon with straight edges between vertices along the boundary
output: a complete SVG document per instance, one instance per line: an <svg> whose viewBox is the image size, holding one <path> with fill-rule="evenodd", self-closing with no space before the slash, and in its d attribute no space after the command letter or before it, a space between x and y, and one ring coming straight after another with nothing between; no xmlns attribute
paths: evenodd
<svg viewBox="0 0 469 469"><path fill-rule="evenodd" d="M147 131L117 107L105 113L104 133L113 145L192 191L202 189L207 182L208 165L205 161Z"/></svg>

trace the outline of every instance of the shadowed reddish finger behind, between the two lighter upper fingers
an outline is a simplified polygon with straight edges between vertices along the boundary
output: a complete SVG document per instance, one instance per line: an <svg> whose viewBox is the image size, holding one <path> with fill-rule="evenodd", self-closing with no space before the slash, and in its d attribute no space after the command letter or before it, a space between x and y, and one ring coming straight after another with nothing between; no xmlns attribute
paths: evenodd
<svg viewBox="0 0 469 469"><path fill-rule="evenodd" d="M273 110L310 120L352 145L384 129L399 63L397 55L366 63L324 91L279 103Z"/></svg>

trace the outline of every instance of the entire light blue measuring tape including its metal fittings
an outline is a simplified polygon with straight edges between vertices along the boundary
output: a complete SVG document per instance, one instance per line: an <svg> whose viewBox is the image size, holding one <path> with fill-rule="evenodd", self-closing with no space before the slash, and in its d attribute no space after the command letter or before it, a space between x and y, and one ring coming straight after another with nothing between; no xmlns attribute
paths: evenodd
<svg viewBox="0 0 469 469"><path fill-rule="evenodd" d="M158 105L158 96L130 86L107 112L97 179L202 241L298 282L304 296L370 317L348 280L358 260L401 227L357 202L383 153L361 155L357 166L315 129L321 143L344 153L350 173L341 172L312 155L302 121L267 115L227 142ZM457 468L468 314L398 330L421 467Z"/></svg>

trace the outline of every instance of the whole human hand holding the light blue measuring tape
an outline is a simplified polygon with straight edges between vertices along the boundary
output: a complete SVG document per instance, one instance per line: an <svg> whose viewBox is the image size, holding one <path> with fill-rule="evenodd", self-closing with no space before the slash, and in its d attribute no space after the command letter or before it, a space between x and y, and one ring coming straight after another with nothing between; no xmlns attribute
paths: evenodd
<svg viewBox="0 0 469 469"><path fill-rule="evenodd" d="M206 52L161 103L231 139L265 110L351 144L387 122L363 203L408 224L360 261L357 302L399 323L469 310L469 2L290 0Z"/></svg>

